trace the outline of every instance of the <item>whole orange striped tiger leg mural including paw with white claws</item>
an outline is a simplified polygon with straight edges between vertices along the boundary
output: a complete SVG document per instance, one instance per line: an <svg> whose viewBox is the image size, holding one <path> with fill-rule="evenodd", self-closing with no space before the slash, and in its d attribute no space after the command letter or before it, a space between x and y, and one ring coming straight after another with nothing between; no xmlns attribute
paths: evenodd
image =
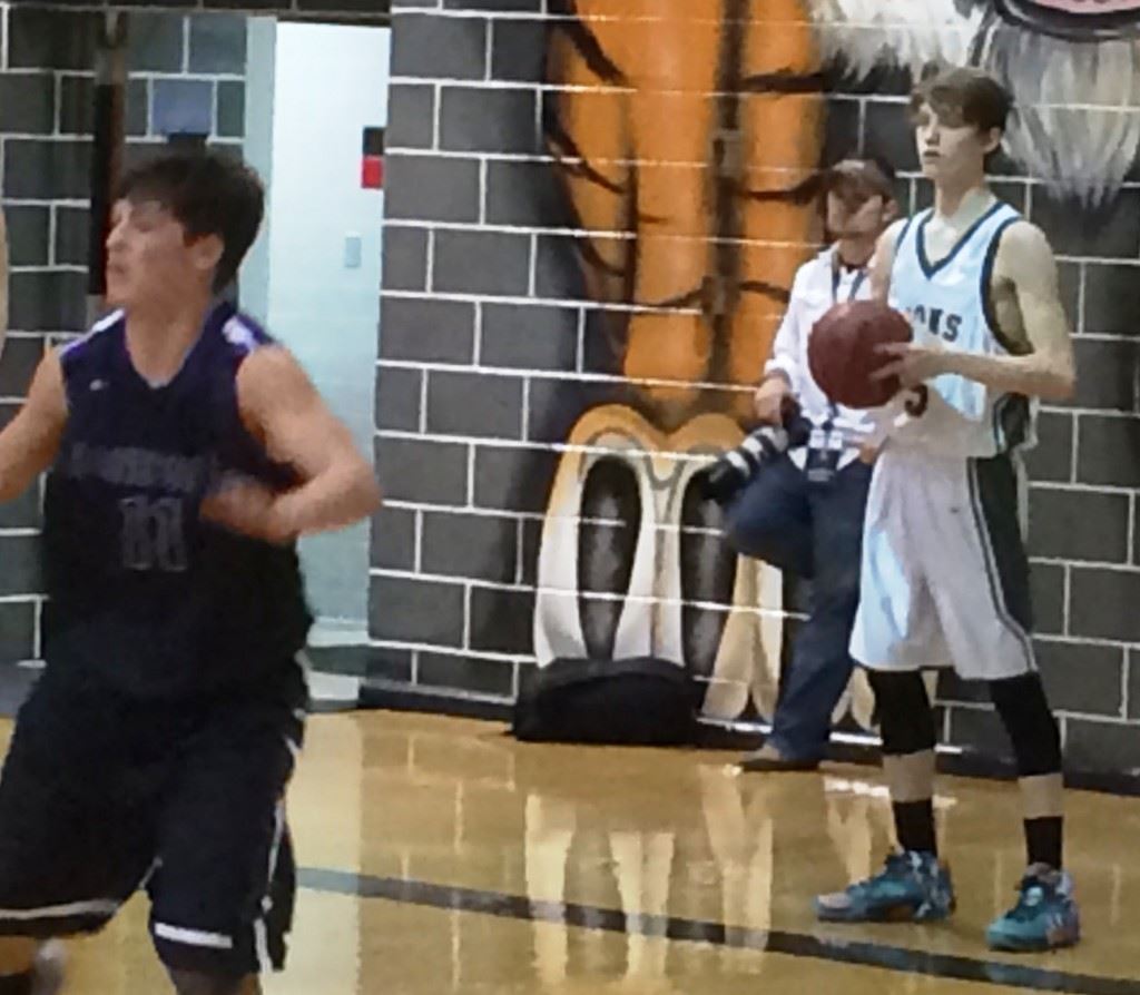
<svg viewBox="0 0 1140 995"><path fill-rule="evenodd" d="M536 654L656 656L706 682L706 715L771 715L782 581L720 543L694 476L740 441L796 269L822 236L807 3L562 0L554 13L548 146L636 410L594 408L569 433ZM621 525L598 537L588 522L603 513Z"/></svg>

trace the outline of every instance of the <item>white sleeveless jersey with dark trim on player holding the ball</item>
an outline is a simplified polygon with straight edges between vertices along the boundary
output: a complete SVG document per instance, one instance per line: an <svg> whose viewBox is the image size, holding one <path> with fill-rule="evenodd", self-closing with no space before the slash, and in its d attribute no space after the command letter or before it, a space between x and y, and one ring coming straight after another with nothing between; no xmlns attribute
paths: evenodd
<svg viewBox="0 0 1140 995"><path fill-rule="evenodd" d="M927 210L911 218L898 237L890 305L910 318L918 343L937 340L944 349L1011 354L993 315L990 287L999 239L1020 214L997 202L937 263L926 250L931 214ZM926 386L888 406L891 445L940 456L990 457L1033 443L1035 405L1028 398L956 374Z"/></svg>

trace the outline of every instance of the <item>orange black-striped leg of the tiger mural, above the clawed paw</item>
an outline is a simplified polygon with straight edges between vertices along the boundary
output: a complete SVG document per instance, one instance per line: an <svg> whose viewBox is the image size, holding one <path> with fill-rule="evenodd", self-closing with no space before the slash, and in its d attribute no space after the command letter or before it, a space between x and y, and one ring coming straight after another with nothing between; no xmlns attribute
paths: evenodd
<svg viewBox="0 0 1140 995"><path fill-rule="evenodd" d="M747 416L820 237L820 55L803 0L563 0L551 149L622 370L654 418ZM648 43L652 39L652 43ZM702 389L703 388L703 389Z"/></svg>

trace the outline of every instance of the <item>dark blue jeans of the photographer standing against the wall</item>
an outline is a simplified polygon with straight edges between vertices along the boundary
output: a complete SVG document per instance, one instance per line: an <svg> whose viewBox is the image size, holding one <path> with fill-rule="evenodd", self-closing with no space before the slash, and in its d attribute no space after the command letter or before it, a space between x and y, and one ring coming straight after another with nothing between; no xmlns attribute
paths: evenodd
<svg viewBox="0 0 1140 995"><path fill-rule="evenodd" d="M768 740L783 757L820 759L852 674L863 515L871 467L860 459L813 483L787 455L765 466L728 508L728 540L746 556L812 579L811 615L792 647Z"/></svg>

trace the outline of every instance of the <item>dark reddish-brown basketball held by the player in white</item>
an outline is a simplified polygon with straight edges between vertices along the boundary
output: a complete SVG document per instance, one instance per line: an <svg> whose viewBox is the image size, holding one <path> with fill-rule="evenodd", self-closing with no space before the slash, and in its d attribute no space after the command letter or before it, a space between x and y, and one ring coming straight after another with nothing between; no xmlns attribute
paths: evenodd
<svg viewBox="0 0 1140 995"><path fill-rule="evenodd" d="M832 401L848 408L877 408L902 388L897 376L871 378L893 359L878 348L910 341L911 325L894 308L879 301L850 301L836 304L815 323L807 361L815 382Z"/></svg>

